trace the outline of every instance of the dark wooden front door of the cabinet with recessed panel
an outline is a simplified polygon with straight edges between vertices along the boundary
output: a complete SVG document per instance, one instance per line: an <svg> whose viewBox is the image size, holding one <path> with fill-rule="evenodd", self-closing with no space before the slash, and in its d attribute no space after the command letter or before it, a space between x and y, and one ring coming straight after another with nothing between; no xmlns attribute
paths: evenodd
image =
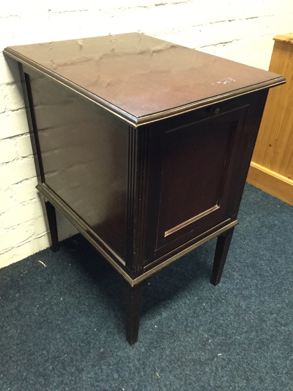
<svg viewBox="0 0 293 391"><path fill-rule="evenodd" d="M164 130L157 249L229 218L229 166L247 107Z"/></svg>

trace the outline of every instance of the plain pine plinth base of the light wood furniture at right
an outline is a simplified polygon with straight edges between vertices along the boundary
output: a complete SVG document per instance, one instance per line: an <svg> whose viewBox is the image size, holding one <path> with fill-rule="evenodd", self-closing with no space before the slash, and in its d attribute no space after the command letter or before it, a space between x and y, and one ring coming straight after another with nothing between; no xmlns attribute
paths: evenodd
<svg viewBox="0 0 293 391"><path fill-rule="evenodd" d="M248 171L247 182L293 205L293 180L252 161Z"/></svg>

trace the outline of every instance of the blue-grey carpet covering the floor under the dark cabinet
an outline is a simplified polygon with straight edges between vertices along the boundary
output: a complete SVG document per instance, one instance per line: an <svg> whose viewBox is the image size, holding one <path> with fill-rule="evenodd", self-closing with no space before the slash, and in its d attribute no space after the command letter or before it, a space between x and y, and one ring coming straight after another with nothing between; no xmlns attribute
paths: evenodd
<svg viewBox="0 0 293 391"><path fill-rule="evenodd" d="M133 346L80 235L1 269L0 390L292 391L293 207L246 185L238 218L219 285L215 240L150 278Z"/></svg>

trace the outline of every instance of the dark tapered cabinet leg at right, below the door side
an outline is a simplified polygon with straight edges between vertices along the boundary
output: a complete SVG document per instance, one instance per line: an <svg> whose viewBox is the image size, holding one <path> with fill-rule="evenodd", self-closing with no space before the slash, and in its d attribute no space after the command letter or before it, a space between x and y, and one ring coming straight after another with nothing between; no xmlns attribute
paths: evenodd
<svg viewBox="0 0 293 391"><path fill-rule="evenodd" d="M223 235L218 236L211 276L211 283L213 285L217 285L221 280L233 232L234 227L226 231Z"/></svg>

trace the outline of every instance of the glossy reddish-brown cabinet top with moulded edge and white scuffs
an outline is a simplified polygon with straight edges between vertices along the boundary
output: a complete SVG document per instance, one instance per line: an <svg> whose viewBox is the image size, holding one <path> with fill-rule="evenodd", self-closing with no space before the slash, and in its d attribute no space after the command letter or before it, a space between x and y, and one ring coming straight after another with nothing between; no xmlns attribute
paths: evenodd
<svg viewBox="0 0 293 391"><path fill-rule="evenodd" d="M139 33L14 46L4 53L134 125L285 82Z"/></svg>

